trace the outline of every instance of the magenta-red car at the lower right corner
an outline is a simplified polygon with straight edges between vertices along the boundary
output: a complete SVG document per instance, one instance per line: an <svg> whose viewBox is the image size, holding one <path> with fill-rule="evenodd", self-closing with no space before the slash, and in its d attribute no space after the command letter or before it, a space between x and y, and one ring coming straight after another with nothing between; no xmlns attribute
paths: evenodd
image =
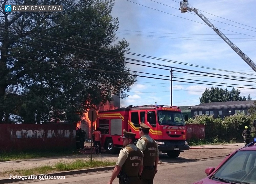
<svg viewBox="0 0 256 184"><path fill-rule="evenodd" d="M194 184L256 184L256 142L237 149L205 173L208 177Z"/></svg>

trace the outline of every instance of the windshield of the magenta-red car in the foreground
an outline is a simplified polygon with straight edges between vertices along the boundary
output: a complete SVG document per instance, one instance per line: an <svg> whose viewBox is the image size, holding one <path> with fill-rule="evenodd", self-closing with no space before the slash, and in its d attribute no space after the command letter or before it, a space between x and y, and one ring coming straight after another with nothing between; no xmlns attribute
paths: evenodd
<svg viewBox="0 0 256 184"><path fill-rule="evenodd" d="M256 151L238 151L211 177L212 180L256 183Z"/></svg>

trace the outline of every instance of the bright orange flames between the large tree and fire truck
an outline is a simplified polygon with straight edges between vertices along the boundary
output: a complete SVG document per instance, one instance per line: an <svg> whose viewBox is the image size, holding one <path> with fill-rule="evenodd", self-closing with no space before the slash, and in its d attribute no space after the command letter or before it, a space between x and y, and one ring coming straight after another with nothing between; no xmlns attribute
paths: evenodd
<svg viewBox="0 0 256 184"><path fill-rule="evenodd" d="M101 104L101 105L99 105L99 111L106 111L106 110L114 110L114 109L118 109L118 107L115 107L114 105L113 105L113 103L112 102L107 102L105 105L103 105L103 104ZM89 109L88 109L89 110ZM87 111L88 111L87 110ZM98 114L98 112L99 111L97 111L97 114ZM87 129L87 130L84 130L84 131L86 131L86 135L89 137L89 138L91 138L91 121L89 120L89 118L88 118L88 112L86 112L86 113L84 113L83 114L83 116L82 116L82 121L84 121L84 123L85 123L85 126L86 126L86 128L85 129ZM81 121L79 121L78 123L77 123L77 127L81 127ZM96 121L94 121L93 123L92 123L92 129L93 130L95 130L96 129L96 126L95 126L95 124L96 124ZM79 126L78 126L79 125ZM83 130L83 128L82 128L82 130Z"/></svg>

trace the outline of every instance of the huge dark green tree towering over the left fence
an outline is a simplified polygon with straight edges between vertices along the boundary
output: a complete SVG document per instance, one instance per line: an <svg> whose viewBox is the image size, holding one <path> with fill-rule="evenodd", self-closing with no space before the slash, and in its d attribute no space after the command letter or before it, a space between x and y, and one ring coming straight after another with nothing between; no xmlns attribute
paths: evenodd
<svg viewBox="0 0 256 184"><path fill-rule="evenodd" d="M63 12L5 12L9 4L63 5ZM125 63L129 43L115 36L113 4L1 1L0 123L74 122L111 94L127 96L136 76Z"/></svg>

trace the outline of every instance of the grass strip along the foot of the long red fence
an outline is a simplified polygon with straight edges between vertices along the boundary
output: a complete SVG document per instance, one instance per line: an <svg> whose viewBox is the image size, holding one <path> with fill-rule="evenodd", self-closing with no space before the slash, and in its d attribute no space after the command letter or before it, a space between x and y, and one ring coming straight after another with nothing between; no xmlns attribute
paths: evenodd
<svg viewBox="0 0 256 184"><path fill-rule="evenodd" d="M55 156L71 156L74 155L72 150L60 151L27 151L27 152L2 152L0 153L0 161L31 159L40 157L55 157Z"/></svg>

